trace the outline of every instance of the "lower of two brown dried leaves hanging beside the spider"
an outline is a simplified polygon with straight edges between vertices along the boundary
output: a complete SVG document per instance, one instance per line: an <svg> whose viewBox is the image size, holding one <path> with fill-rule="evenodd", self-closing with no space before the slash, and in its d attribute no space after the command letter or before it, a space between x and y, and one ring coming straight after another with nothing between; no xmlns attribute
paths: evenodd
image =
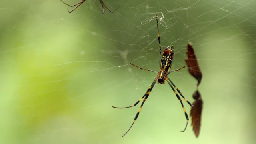
<svg viewBox="0 0 256 144"><path fill-rule="evenodd" d="M198 138L199 132L200 132L200 126L201 126L203 100L198 90L194 92L193 98L195 99L195 101L193 102L194 106L191 107L191 111L190 111L190 116L192 117L191 125L193 126L193 131L196 134L196 137Z"/></svg>

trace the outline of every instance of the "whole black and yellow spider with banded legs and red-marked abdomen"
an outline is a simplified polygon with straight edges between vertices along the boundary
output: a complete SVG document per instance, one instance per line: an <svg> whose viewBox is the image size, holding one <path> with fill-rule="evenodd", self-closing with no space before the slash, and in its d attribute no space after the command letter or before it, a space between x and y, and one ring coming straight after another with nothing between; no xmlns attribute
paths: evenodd
<svg viewBox="0 0 256 144"><path fill-rule="evenodd" d="M186 102L190 105L190 106L193 106L183 95L182 93L180 92L180 90L174 85L174 83L172 82L172 80L170 80L170 78L168 77L168 74L170 74L171 72L178 72L180 71L181 69L185 68L188 64L188 62L186 63L185 66L183 66L182 68L179 68L177 70L172 70L170 71L171 69L171 66L172 66L172 60L173 60L173 56L174 56L174 46L171 45L171 46L168 46L164 52L162 53L162 56L161 56L161 41L160 41L160 35L159 35L159 28L158 28L158 18L157 18L157 14L156 14L156 24L157 24L157 31L158 31L158 42L159 42L159 55L160 55L160 60L159 60L159 65L160 65L160 71L159 72L156 72L154 70L148 70L148 69L145 69L145 68L140 68L138 66L135 66L134 64L131 64L132 66L135 66L136 68L139 68L140 70L146 70L146 71L149 71L149 72L156 72L158 73L158 75L156 76L156 79L154 80L154 82L151 84L151 86L148 88L147 92L144 94L144 96L142 96L142 98L140 98L134 105L132 106L128 106L128 107L115 107L115 106L112 106L113 108L131 108L131 107L134 107L136 106L143 98L143 102L140 106L140 109L139 111L137 112L135 118L134 118L134 121L132 122L132 125L130 126L130 128L127 130L127 132L123 135L125 136L129 130L132 128L134 122L137 120L139 114L140 114L140 111L142 109L142 106L144 104L144 102L146 102L150 92L152 91L154 85L156 84L156 82L160 83L160 84L164 84L165 81L168 82L168 84L170 85L170 87L172 88L174 94L176 95L176 97L178 98L178 100L180 101L180 104L184 110L184 113L185 113L185 116L186 116L186 119L187 119L187 123L186 123L186 127L184 130L182 130L181 132L184 132L188 126L188 114L186 112L186 109L184 108L184 105L182 103L182 100L180 99L180 96L182 96L182 98L184 98L184 100L186 100ZM180 94L180 96L178 95L178 93L176 92L176 90L178 91L178 93ZM123 137L122 136L122 137Z"/></svg>

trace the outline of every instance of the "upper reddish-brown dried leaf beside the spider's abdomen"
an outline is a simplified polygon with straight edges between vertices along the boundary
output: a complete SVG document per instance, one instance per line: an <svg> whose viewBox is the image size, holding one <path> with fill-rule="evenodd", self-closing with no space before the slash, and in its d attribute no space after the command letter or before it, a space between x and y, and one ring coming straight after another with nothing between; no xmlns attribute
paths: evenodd
<svg viewBox="0 0 256 144"><path fill-rule="evenodd" d="M196 80L198 81L196 87L198 87L200 82L201 82L201 79L202 79L202 72L199 68L198 60L197 60L196 55L194 53L194 49L190 44L188 44L187 54L188 54L188 59L189 60L186 59L185 61L186 62L188 61L188 72L192 76L194 76L194 78L196 78Z"/></svg>

